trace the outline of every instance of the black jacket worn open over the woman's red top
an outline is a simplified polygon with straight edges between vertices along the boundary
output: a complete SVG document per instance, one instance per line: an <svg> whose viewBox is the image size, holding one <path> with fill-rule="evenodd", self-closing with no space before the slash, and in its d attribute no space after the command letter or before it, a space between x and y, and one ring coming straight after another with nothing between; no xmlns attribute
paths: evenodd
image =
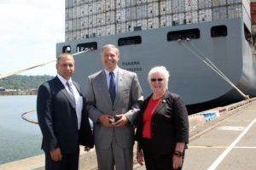
<svg viewBox="0 0 256 170"><path fill-rule="evenodd" d="M142 146L143 114L152 94L143 102L137 116L136 139ZM177 94L166 91L151 119L151 141L160 154L171 154L177 142L189 143L188 111Z"/></svg>

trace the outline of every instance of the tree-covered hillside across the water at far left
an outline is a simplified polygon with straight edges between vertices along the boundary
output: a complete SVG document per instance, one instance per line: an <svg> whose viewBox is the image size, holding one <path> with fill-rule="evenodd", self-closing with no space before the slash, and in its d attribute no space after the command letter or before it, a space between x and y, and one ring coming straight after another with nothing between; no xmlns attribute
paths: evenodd
<svg viewBox="0 0 256 170"><path fill-rule="evenodd" d="M38 89L38 87L53 77L49 75L44 76L22 76L14 75L0 79L0 87L7 89Z"/></svg>

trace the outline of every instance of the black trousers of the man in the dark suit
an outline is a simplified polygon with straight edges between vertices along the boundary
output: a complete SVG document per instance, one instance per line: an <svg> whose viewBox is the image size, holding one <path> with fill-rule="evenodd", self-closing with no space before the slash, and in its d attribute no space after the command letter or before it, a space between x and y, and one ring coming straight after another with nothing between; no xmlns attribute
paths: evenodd
<svg viewBox="0 0 256 170"><path fill-rule="evenodd" d="M79 169L79 147L71 154L62 154L61 161L53 161L49 152L45 154L45 170L78 170Z"/></svg>

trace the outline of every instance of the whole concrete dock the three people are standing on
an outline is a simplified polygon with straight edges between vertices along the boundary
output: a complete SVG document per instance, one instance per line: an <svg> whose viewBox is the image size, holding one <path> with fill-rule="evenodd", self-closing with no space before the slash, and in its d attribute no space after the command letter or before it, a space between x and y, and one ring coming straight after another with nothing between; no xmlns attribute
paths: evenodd
<svg viewBox="0 0 256 170"><path fill-rule="evenodd" d="M255 131L255 99L189 116L189 149L183 170L256 169ZM137 164L135 155L134 169L145 170ZM44 155L0 165L0 170L25 169L44 170ZM95 150L81 151L79 170L85 169L97 169Z"/></svg>

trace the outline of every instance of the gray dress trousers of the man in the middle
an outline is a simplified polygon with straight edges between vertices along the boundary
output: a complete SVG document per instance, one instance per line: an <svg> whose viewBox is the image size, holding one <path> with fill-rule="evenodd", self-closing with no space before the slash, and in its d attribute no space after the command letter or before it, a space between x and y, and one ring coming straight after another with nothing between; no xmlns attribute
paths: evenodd
<svg viewBox="0 0 256 170"><path fill-rule="evenodd" d="M104 150L96 147L96 155L99 170L132 170L133 146L121 148L116 143L113 135L110 148Z"/></svg>

